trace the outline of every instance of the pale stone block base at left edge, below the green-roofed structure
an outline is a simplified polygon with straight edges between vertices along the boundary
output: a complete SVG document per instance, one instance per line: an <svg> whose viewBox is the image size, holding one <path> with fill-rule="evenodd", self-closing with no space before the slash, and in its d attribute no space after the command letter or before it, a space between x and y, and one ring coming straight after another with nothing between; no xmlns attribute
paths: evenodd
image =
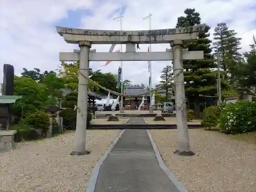
<svg viewBox="0 0 256 192"><path fill-rule="evenodd" d="M0 131L0 152L11 150L14 147L14 134L16 130Z"/></svg>

